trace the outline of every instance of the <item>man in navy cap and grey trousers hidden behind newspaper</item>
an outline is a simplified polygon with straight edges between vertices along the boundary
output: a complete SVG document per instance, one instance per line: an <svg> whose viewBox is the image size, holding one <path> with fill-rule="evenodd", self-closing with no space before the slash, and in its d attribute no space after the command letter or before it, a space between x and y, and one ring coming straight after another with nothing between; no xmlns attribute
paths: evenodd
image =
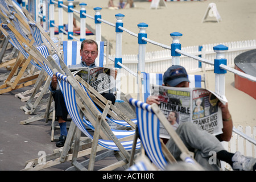
<svg viewBox="0 0 256 182"><path fill-rule="evenodd" d="M172 65L163 75L163 82L165 86L172 87L189 87L188 74L184 67L180 65ZM149 96L146 100L147 104L160 104L157 96ZM220 141L229 141L232 136L233 121L229 113L228 104L224 105L218 102L222 112L223 119L223 133L220 135L212 135L207 131L201 130L199 126L192 122L183 122L176 129L183 143L189 151L195 153L195 159L201 166L208 170L218 170L216 163L210 163L209 159L212 157L212 152L216 152L216 158L223 160L230 164L233 169L237 170L255 170L256 159L248 158L236 152L230 153L224 149ZM179 148L172 138L166 143L166 147L175 159L179 160L181 154ZM218 161L217 160L217 161Z"/></svg>

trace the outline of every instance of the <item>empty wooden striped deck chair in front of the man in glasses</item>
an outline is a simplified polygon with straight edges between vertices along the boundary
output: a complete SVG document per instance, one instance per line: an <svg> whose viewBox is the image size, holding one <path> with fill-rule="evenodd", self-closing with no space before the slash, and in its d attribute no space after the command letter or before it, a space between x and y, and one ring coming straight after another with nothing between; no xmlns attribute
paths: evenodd
<svg viewBox="0 0 256 182"><path fill-rule="evenodd" d="M51 57L51 56L49 56ZM54 63L54 62L52 62ZM57 64L56 64L57 65ZM67 73L67 76L62 75L61 73L57 72L56 69L53 69L53 72L55 75L59 78L59 85L60 89L64 94L64 99L67 105L67 109L69 111L69 114L72 117L72 123L76 123L76 126L82 131L84 134L88 135L88 137L93 138L93 146L92 146L92 154L91 156L96 155L96 148L97 144L100 144L100 146L105 147L106 149L109 150L120 150L122 154L125 156L125 160L121 162L123 165L123 162L127 161L129 159L129 154L127 153L126 150L131 150L131 146L133 145L133 140L129 140L129 136L132 136L135 131L118 131L118 130L111 130L110 127L108 126L108 123L106 123L105 119L103 119L101 113L97 111L97 109L94 107L92 102L90 102L89 98L87 97L87 94L84 92L84 89L80 86L80 84L76 81L75 77L73 77L72 73L69 71L67 66L63 63L61 65L61 68L64 67L64 70ZM57 68L59 66L56 66ZM58 68L60 72L61 69ZM80 97L80 100L77 100L77 97ZM82 101L82 103L80 102ZM94 131L94 136L90 135L88 131L86 130L85 123L83 122L84 117L82 117L81 112L83 113L82 115L85 115L86 118L88 118L88 121L92 123L93 127L95 128ZM103 115L106 115L106 112L104 112ZM99 120L100 119L100 120ZM101 121L101 125L104 127L101 127L101 125L97 125L97 121ZM119 135L121 133L121 136ZM128 133L128 134L127 134ZM97 139L98 136L101 136L101 139ZM68 137L70 135L70 132L68 132ZM119 136L119 137L118 137ZM68 138L67 137L67 138ZM126 141L118 141L119 139L122 139L123 137L128 137ZM132 139L133 137L130 137ZM139 142L139 141L138 141ZM66 146L65 142L65 146ZM137 147L139 147L139 143ZM93 159L90 159L93 163ZM91 164L93 165L93 164ZM47 164L49 166L49 164ZM93 169L93 167L89 167L90 169Z"/></svg>

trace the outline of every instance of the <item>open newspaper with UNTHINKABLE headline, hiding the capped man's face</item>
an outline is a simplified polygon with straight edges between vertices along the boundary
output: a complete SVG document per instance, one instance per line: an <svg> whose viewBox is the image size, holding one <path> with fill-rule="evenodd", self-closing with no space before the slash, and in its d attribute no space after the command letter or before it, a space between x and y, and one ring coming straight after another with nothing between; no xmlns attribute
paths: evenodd
<svg viewBox="0 0 256 182"><path fill-rule="evenodd" d="M174 129L180 123L192 122L210 134L222 133L222 114L218 102L226 104L225 96L203 88L151 85L151 89L151 95L160 98L159 107ZM160 126L160 137L170 138L163 126Z"/></svg>

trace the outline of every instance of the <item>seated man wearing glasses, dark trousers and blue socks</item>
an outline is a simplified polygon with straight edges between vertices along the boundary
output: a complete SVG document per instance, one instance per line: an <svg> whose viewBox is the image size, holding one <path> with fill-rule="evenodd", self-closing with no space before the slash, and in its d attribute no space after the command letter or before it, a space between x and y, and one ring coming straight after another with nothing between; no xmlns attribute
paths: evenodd
<svg viewBox="0 0 256 182"><path fill-rule="evenodd" d="M92 39L85 39L81 43L80 49L81 63L76 65L69 65L68 68L94 68L97 67L95 64L95 60L98 56L98 44ZM115 75L117 72L115 72ZM56 147L63 147L65 143L65 139L67 138L67 116L68 111L65 106L63 94L60 89L57 88L57 77L53 75L52 81L49 85L49 90L52 92L53 100L55 101L55 111L57 121L60 125L60 138L56 142ZM115 96L113 93L102 93L102 96L106 98L106 100L112 101L112 104L115 104Z"/></svg>

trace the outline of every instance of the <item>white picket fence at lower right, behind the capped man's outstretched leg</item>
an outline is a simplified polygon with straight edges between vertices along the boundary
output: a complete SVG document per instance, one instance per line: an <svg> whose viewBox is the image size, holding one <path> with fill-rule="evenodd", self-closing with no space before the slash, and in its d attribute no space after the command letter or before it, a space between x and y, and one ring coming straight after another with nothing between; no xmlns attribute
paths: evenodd
<svg viewBox="0 0 256 182"><path fill-rule="evenodd" d="M251 126L246 126L244 130L242 126L238 126L237 130L256 140L256 126L253 128L251 128ZM246 140L245 138L241 137L241 135L234 132L230 141L222 142L222 144L229 152L234 153L236 151L240 151L242 155L256 158L256 144L249 142L249 140ZM232 167L225 162L222 162L221 166L224 170L232 170Z"/></svg>

